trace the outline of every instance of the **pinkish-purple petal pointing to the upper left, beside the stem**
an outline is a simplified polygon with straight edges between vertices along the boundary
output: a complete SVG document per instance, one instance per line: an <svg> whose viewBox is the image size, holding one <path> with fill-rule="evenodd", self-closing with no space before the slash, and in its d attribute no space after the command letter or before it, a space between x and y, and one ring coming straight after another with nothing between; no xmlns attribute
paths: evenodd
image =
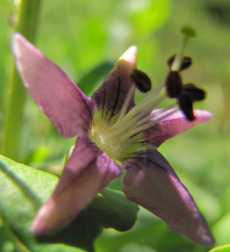
<svg viewBox="0 0 230 252"><path fill-rule="evenodd" d="M87 131L91 101L73 81L22 35L13 37L13 52L24 85L63 137Z"/></svg>

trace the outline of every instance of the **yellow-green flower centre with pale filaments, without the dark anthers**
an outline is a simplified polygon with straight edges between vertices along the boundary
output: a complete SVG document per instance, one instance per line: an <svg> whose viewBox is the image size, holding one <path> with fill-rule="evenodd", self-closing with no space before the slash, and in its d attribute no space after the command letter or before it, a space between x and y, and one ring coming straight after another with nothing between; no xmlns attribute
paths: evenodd
<svg viewBox="0 0 230 252"><path fill-rule="evenodd" d="M177 105L151 111L163 102L167 96L159 95L164 83L149 94L131 110L127 111L136 87L132 86L126 96L120 113L109 122L102 119L101 111L97 111L90 131L90 137L109 157L117 162L132 158L138 151L147 148L143 131L159 123L176 110L169 110ZM159 95L159 97L158 97ZM169 111L168 111L169 110Z"/></svg>

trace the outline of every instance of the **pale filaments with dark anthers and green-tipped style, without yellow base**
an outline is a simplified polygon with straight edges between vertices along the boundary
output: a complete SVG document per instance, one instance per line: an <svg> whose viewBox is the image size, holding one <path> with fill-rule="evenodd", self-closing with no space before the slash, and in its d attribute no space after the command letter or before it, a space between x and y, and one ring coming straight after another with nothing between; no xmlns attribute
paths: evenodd
<svg viewBox="0 0 230 252"><path fill-rule="evenodd" d="M189 109L191 106L188 106L187 103L185 104L184 99L181 99L183 85L180 71L187 68L191 64L191 58L183 57L183 51L189 37L194 34L193 30L188 27L184 28L182 32L184 33L182 46L179 50L179 53L175 57L172 57L168 62L169 67L171 67L171 71L169 72L166 81L162 82L155 90L150 91L149 94L141 102L139 102L127 113L128 105L130 104L131 97L133 97L135 90L134 87L130 88L117 121L113 126L110 126L107 129L107 133L109 133L111 138L119 137L119 142L122 142L149 127L153 127L161 120L174 113L176 110L168 110L178 105L178 103L180 108L183 107L182 111L186 107L186 109L184 109L186 110L185 112L187 112L187 110L191 112ZM149 77L142 71L135 69L131 75L131 78L135 82L137 88L141 89L142 92L145 92L149 89L151 81ZM165 86L167 95L165 94L163 96L158 96L162 88ZM201 92L197 90L198 89L194 88L191 85L187 85L186 89L184 89L184 91L189 92L189 95L194 93L194 97L201 97ZM158 110L153 114L149 114L159 104L161 104L167 98L167 96L169 98L177 98L178 101L174 102L164 109ZM186 97L187 95L184 94L182 98ZM155 120L150 121L154 118Z"/></svg>

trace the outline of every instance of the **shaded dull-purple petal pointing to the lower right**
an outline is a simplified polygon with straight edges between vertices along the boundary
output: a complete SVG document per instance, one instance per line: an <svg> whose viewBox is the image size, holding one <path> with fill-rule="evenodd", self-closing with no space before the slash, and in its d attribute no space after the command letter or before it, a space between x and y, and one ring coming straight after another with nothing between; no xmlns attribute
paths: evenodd
<svg viewBox="0 0 230 252"><path fill-rule="evenodd" d="M193 198L169 163L156 150L146 150L124 167L126 197L162 218L169 228L196 243L214 239Z"/></svg>

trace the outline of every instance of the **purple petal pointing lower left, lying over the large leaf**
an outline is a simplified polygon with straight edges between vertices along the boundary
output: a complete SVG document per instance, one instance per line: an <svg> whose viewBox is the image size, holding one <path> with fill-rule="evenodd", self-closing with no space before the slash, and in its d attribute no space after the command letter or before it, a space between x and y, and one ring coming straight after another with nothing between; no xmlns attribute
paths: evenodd
<svg viewBox="0 0 230 252"><path fill-rule="evenodd" d="M40 208L31 229L50 234L66 227L111 180L120 168L86 136L77 145L48 201Z"/></svg>

